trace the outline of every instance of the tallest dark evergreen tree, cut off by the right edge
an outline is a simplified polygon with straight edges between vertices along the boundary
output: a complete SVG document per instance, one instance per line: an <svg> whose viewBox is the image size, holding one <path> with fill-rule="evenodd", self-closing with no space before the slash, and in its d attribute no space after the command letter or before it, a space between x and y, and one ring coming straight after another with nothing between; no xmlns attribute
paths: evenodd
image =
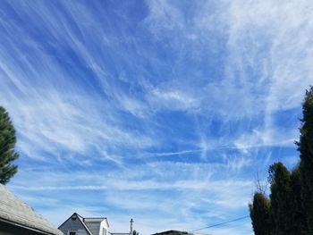
<svg viewBox="0 0 313 235"><path fill-rule="evenodd" d="M302 106L303 118L300 128L301 197L307 212L308 234L313 234L313 88L309 88Z"/></svg>

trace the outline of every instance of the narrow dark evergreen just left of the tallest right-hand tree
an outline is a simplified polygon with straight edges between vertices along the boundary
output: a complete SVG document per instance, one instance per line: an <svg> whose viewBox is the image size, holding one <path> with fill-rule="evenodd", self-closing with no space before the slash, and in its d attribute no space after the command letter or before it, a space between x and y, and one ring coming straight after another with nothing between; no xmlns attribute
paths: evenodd
<svg viewBox="0 0 313 235"><path fill-rule="evenodd" d="M299 167L293 169L291 175L292 186L292 227L290 235L307 234L307 218L301 199L301 179Z"/></svg>

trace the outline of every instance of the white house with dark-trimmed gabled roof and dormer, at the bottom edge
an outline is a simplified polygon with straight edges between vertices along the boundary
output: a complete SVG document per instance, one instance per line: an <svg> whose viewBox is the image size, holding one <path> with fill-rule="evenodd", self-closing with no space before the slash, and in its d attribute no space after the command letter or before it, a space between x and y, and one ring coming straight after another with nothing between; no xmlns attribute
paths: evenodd
<svg viewBox="0 0 313 235"><path fill-rule="evenodd" d="M64 235L108 235L106 218L84 218L74 213L58 228Z"/></svg>

